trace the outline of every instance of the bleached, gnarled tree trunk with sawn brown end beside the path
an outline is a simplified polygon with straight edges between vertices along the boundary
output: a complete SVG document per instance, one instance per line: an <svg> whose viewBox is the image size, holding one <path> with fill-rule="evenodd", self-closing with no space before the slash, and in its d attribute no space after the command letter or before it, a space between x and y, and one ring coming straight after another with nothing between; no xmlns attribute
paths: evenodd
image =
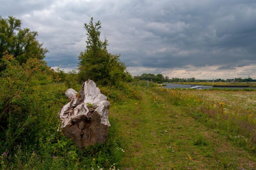
<svg viewBox="0 0 256 170"><path fill-rule="evenodd" d="M79 148L105 142L110 127L110 103L96 84L88 79L81 91L77 93L74 89L68 89L66 96L70 102L59 111L63 134L72 138Z"/></svg>

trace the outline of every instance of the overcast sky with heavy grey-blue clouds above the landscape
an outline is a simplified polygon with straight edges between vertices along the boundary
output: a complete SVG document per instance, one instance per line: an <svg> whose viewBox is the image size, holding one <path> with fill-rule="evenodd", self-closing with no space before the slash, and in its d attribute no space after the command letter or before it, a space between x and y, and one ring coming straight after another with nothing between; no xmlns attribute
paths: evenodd
<svg viewBox="0 0 256 170"><path fill-rule="evenodd" d="M132 75L256 79L255 0L0 0L37 31L52 68L77 67L86 46L84 23L102 23L111 53Z"/></svg>

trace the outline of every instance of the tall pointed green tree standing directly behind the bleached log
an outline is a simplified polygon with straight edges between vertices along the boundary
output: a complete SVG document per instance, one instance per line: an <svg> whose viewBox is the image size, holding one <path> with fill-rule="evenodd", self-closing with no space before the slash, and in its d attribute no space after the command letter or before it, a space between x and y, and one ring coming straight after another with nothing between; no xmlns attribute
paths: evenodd
<svg viewBox="0 0 256 170"><path fill-rule="evenodd" d="M101 85L116 85L118 81L131 79L120 55L110 54L107 50L107 39L100 40L100 21L93 23L91 18L88 24L84 24L84 28L87 31L87 45L85 51L78 56L79 79L91 79Z"/></svg>

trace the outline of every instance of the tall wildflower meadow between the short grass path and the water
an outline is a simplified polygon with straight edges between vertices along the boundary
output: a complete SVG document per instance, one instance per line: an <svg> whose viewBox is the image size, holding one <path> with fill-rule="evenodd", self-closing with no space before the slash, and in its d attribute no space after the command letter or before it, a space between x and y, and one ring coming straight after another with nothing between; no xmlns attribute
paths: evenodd
<svg viewBox="0 0 256 170"><path fill-rule="evenodd" d="M256 111L255 107L228 95L242 95L255 100L254 92L225 92L225 101L220 101L214 91L171 90L154 88L158 94L164 95L169 102L181 106L187 115L192 116L214 132L226 135L229 140L256 152ZM210 94L211 92L211 94ZM214 94L215 93L215 94Z"/></svg>

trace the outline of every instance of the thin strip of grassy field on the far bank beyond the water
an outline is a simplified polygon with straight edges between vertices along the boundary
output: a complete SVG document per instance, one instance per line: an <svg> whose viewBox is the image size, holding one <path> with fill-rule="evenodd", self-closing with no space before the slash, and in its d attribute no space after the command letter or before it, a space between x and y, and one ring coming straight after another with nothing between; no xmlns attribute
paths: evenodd
<svg viewBox="0 0 256 170"><path fill-rule="evenodd" d="M204 86L212 86L212 82L178 82L174 84L195 84L195 85L204 85ZM250 87L256 87L256 82L241 82L241 83L230 83L230 82L214 82L214 85L249 85Z"/></svg>

